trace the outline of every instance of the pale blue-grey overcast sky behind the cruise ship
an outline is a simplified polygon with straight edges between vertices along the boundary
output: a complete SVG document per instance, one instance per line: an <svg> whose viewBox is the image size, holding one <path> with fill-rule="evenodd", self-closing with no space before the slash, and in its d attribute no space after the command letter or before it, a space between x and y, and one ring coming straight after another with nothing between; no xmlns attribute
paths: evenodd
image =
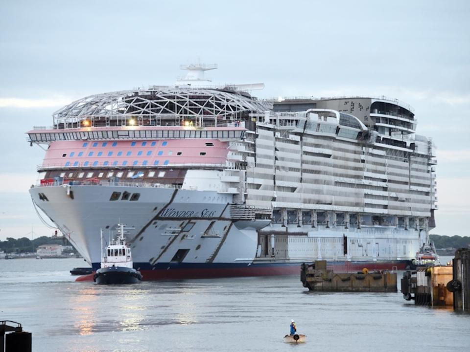
<svg viewBox="0 0 470 352"><path fill-rule="evenodd" d="M27 192L44 152L24 132L90 94L173 84L198 58L214 83L265 83L261 98L411 104L437 146L431 233L469 235L470 1L2 0L0 16L0 240L52 234Z"/></svg>

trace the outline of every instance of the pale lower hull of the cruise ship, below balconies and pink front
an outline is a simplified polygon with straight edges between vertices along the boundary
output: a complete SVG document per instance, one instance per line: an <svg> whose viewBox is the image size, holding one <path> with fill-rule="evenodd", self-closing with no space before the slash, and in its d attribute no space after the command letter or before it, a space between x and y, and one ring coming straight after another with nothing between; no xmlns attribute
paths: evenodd
<svg viewBox="0 0 470 352"><path fill-rule="evenodd" d="M139 192L139 201L110 200L124 191ZM118 219L134 227L127 239L134 268L145 280L298 274L300 264L315 260L327 260L341 271L404 269L419 246L416 231L396 227L282 227L269 220L236 220L227 198L210 191L72 185L70 190L48 186L30 192L95 270L100 230L106 242L106 229ZM48 200L41 200L40 193ZM344 236L354 239L347 255Z"/></svg>

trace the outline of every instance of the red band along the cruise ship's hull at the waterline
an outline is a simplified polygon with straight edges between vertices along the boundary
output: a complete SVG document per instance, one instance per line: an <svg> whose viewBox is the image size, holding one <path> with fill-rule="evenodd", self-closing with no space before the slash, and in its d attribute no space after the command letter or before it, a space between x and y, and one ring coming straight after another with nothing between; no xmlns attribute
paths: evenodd
<svg viewBox="0 0 470 352"><path fill-rule="evenodd" d="M209 279L224 277L246 277L246 276L277 276L277 275L300 275L300 263L290 265L249 265L243 267L194 267L194 268L167 268L145 270L139 269L142 280L175 280L175 279ZM368 270L405 270L408 263L400 262L335 262L328 263L328 268L337 272L354 272L363 268ZM75 281L93 281L93 275L78 277Z"/></svg>

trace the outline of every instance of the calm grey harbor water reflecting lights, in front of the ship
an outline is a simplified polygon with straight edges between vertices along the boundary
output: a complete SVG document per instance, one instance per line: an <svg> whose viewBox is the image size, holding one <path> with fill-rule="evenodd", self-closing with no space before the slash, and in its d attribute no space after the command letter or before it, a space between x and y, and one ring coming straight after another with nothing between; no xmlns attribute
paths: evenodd
<svg viewBox="0 0 470 352"><path fill-rule="evenodd" d="M399 293L307 293L299 276L76 283L78 259L0 260L0 320L33 351L469 351L470 315ZM290 320L307 335L285 344Z"/></svg>

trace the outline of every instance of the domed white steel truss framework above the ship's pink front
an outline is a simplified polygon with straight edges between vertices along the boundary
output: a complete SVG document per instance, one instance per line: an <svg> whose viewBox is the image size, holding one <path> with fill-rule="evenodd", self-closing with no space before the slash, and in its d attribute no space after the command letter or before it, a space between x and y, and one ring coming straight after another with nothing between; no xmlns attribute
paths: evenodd
<svg viewBox="0 0 470 352"><path fill-rule="evenodd" d="M217 88L150 87L90 95L53 114L56 128L172 125L183 119L234 121L269 110L246 92ZM170 122L170 123L168 123Z"/></svg>

